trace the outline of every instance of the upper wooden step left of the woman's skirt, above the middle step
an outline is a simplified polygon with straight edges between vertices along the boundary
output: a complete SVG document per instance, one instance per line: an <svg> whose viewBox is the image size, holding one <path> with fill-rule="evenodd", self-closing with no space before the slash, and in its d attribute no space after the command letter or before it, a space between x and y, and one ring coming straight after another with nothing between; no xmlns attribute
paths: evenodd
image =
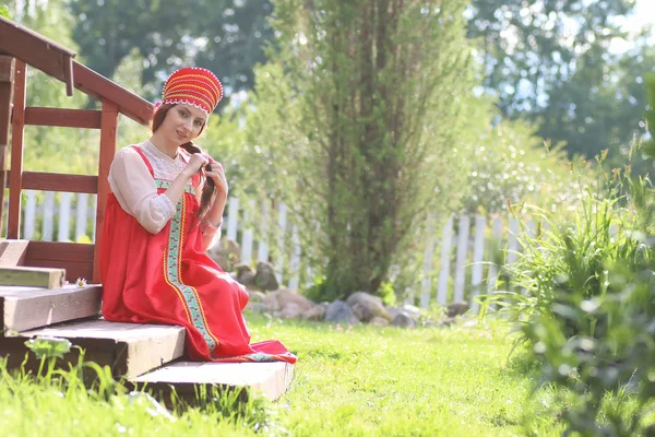
<svg viewBox="0 0 655 437"><path fill-rule="evenodd" d="M0 286L0 327L5 336L62 321L98 316L100 285L61 288Z"/></svg>

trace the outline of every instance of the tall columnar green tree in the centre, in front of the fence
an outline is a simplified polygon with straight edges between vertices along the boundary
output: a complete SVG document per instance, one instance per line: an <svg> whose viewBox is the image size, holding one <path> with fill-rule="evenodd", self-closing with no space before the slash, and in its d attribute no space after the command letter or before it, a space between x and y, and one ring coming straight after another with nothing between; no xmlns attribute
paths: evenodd
<svg viewBox="0 0 655 437"><path fill-rule="evenodd" d="M278 0L247 119L255 186L315 243L320 297L380 293L458 199L474 72L465 1ZM326 265L323 260L326 259Z"/></svg>

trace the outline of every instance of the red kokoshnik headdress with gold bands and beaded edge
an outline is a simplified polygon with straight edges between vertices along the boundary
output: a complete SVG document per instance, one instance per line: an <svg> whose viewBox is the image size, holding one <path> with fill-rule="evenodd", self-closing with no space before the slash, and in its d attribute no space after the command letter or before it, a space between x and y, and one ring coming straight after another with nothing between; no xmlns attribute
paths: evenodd
<svg viewBox="0 0 655 437"><path fill-rule="evenodd" d="M223 98L221 81L207 69L186 67L170 74L164 84L162 103L187 104L212 114Z"/></svg>

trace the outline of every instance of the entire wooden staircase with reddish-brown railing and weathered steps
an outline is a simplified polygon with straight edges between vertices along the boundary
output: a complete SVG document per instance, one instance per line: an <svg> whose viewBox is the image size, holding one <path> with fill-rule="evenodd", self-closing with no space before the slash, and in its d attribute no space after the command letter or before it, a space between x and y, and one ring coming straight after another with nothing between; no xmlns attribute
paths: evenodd
<svg viewBox="0 0 655 437"><path fill-rule="evenodd" d="M147 126L153 115L150 102L75 62L74 57L73 51L56 42L0 16L0 217L9 186L8 239L0 240L0 268L56 268L61 280L52 286L48 277L50 288L39 288L3 277L0 283L8 285L0 285L0 357L7 357L8 366L15 368L29 352L31 359L25 365L38 369L25 341L36 336L63 338L84 349L86 361L109 366L114 377L126 378L136 389L144 385L160 392L175 388L180 394L192 395L199 387L249 387L271 399L279 398L289 385L291 365L186 362L183 328L108 322L99 317L100 285L61 286L64 277L71 282L76 277L100 282L102 233L96 235L94 245L21 239L24 189L97 193L95 222L96 229L102 229L109 192L107 175L117 149L118 117L123 115ZM61 81L68 95L82 92L97 99L102 109L27 106L27 68ZM25 170L23 133L31 125L99 129L97 174ZM76 363L79 354L80 349L72 347L60 365Z"/></svg>

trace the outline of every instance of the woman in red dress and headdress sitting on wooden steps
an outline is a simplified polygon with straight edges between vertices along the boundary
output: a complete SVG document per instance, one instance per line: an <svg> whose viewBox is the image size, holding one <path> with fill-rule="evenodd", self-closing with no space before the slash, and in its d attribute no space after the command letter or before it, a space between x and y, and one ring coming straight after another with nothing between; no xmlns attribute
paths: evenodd
<svg viewBox="0 0 655 437"><path fill-rule="evenodd" d="M241 315L248 293L205 253L221 236L228 188L221 164L192 141L222 97L211 71L176 71L151 139L114 158L100 255L103 316L183 326L195 361L295 363L277 341L249 344Z"/></svg>

